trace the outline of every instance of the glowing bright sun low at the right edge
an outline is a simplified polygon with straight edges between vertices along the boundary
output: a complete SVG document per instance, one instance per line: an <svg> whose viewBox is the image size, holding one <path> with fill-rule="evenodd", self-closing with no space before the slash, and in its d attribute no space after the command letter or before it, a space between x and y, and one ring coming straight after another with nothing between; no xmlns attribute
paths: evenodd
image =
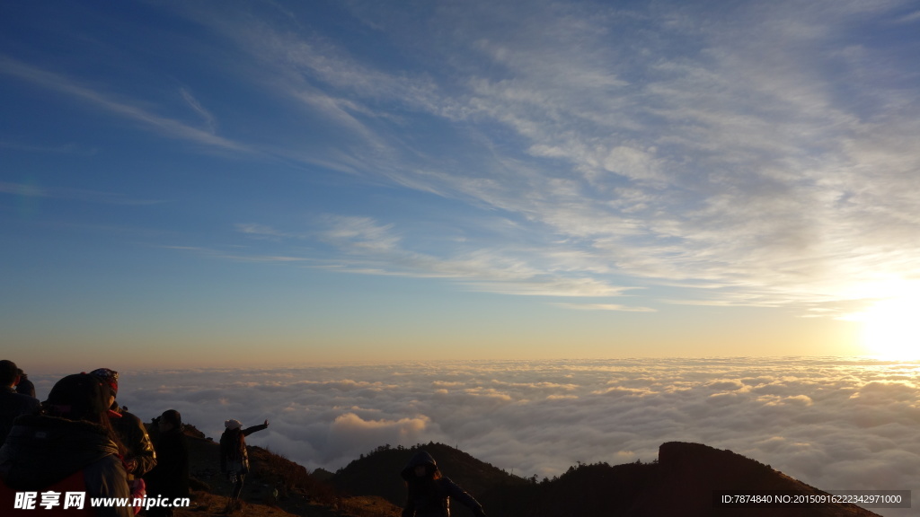
<svg viewBox="0 0 920 517"><path fill-rule="evenodd" d="M889 360L920 358L920 292L880 300L859 320L863 346L870 355Z"/></svg>

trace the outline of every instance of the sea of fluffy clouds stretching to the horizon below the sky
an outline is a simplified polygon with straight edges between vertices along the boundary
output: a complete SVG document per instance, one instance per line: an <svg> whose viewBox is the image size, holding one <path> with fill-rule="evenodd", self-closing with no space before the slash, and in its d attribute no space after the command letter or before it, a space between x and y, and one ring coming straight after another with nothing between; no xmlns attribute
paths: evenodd
<svg viewBox="0 0 920 517"><path fill-rule="evenodd" d="M825 490L912 489L918 372L842 358L349 364L122 372L119 400L145 421L178 409L215 439L225 419L269 419L247 441L311 469L434 441L543 478L577 462L650 462L662 442L684 441ZM55 379L33 380L42 397Z"/></svg>

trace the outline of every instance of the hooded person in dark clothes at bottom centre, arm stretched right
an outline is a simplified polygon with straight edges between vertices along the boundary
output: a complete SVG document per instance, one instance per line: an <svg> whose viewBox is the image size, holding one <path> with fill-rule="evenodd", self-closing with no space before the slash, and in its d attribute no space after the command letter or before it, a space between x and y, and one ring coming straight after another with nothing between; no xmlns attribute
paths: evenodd
<svg viewBox="0 0 920 517"><path fill-rule="evenodd" d="M399 473L406 480L408 496L402 517L450 517L451 498L459 500L477 517L485 517L482 505L457 486L450 477L443 477L431 454L419 451Z"/></svg>

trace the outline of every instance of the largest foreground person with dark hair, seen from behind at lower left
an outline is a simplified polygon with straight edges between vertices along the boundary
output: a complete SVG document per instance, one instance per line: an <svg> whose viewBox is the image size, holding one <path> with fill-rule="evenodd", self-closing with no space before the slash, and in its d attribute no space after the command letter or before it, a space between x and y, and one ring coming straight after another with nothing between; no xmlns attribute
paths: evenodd
<svg viewBox="0 0 920 517"><path fill-rule="evenodd" d="M62 498L66 492L86 495L84 511L58 506L55 510L63 514L133 516L127 506L90 507L93 498L131 497L120 458L124 447L109 425L108 399L108 387L77 373L52 387L39 414L17 419L0 448L0 514L14 508L11 490L17 490L56 492Z"/></svg>

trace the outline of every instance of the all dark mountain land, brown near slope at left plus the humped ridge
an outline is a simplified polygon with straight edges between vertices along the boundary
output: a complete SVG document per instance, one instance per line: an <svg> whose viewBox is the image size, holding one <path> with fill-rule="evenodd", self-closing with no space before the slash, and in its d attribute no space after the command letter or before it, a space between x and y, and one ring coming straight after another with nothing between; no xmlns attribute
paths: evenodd
<svg viewBox="0 0 920 517"><path fill-rule="evenodd" d="M220 514L230 485L219 472L218 445L189 426L192 500L178 517ZM667 442L653 463L579 464L553 479L511 474L443 443L378 447L335 474L313 475L302 465L250 446L252 471L243 490L247 517L397 517L406 488L399 472L419 449L443 474L497 517L871 517L854 505L730 508L713 504L715 490L788 490L822 494L792 477L731 451L699 443ZM452 505L454 517L471 513Z"/></svg>

